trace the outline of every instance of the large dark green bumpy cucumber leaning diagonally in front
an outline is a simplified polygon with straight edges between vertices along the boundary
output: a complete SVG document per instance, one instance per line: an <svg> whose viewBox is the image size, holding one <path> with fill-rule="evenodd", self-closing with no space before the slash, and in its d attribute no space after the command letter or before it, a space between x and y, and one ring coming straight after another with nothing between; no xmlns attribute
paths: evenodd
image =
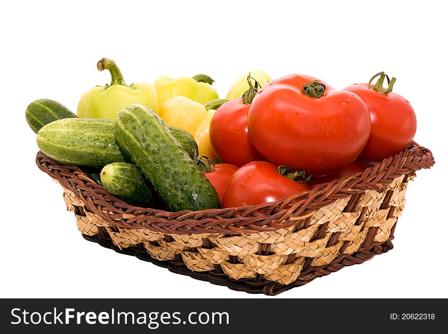
<svg viewBox="0 0 448 334"><path fill-rule="evenodd" d="M142 105L124 108L115 122L115 136L172 211L220 207L210 181L154 110Z"/></svg>

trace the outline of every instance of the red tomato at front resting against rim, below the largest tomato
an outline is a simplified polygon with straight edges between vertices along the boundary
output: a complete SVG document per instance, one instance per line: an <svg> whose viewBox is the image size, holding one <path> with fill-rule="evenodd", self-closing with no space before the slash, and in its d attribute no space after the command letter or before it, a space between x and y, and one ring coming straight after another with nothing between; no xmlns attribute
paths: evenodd
<svg viewBox="0 0 448 334"><path fill-rule="evenodd" d="M254 161L240 167L232 175L222 196L221 206L275 202L307 190L310 190L309 185L278 174L277 167L270 162Z"/></svg>

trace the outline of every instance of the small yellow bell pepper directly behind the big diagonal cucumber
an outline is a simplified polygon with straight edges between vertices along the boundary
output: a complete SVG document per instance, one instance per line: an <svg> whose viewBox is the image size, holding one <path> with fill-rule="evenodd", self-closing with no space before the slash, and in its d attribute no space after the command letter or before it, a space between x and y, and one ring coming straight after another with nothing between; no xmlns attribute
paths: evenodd
<svg viewBox="0 0 448 334"><path fill-rule="evenodd" d="M160 117L172 127L187 131L198 143L199 155L217 161L210 142L210 120L216 109L227 100L213 100L206 105L184 96L176 96L167 100L160 107Z"/></svg>

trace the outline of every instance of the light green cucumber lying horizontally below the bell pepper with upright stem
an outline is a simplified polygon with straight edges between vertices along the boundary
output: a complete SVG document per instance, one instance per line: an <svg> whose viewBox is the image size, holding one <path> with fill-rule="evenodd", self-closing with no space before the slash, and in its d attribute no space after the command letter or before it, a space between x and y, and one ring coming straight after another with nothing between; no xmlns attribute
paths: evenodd
<svg viewBox="0 0 448 334"><path fill-rule="evenodd" d="M128 159L115 141L114 120L65 118L37 133L37 145L48 157L74 166L103 167Z"/></svg>

